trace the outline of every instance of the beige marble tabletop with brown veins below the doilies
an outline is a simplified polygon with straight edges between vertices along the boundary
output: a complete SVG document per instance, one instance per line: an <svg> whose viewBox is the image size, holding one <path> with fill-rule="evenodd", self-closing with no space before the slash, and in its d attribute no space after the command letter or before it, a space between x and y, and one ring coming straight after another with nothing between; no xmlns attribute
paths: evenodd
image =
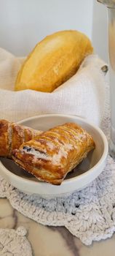
<svg viewBox="0 0 115 256"><path fill-rule="evenodd" d="M0 199L0 228L23 226L28 230L28 240L33 256L114 256L115 234L106 241L84 246L65 227L46 227L17 212L7 199Z"/></svg>

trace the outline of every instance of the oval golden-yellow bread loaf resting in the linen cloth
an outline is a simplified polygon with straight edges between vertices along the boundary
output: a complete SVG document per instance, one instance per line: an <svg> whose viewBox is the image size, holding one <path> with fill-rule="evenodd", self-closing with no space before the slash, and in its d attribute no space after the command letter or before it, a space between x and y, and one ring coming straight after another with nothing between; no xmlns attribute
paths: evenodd
<svg viewBox="0 0 115 256"><path fill-rule="evenodd" d="M79 31L59 31L45 37L25 59L15 90L54 91L76 73L92 51L90 39Z"/></svg>

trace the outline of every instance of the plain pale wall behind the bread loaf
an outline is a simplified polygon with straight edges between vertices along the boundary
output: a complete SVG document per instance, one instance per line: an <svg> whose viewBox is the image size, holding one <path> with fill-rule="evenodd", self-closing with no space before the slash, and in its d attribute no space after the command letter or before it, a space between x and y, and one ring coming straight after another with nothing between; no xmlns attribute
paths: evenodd
<svg viewBox="0 0 115 256"><path fill-rule="evenodd" d="M0 0L0 47L27 55L47 34L76 29L107 61L106 7L96 0Z"/></svg>

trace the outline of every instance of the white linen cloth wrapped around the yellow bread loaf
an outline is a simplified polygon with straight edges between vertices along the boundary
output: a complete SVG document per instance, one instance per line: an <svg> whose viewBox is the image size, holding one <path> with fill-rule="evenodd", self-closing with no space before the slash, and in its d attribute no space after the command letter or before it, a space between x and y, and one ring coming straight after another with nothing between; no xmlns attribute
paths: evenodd
<svg viewBox="0 0 115 256"><path fill-rule="evenodd" d="M46 113L82 116L100 126L105 102L106 79L98 56L87 57L72 78L52 93L14 91L23 59L0 48L0 118L19 121Z"/></svg>

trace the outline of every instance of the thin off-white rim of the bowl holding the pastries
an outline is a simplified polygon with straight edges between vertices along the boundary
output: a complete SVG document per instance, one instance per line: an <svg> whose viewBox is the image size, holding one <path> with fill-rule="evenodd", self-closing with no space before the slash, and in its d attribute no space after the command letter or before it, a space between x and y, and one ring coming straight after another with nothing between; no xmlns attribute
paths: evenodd
<svg viewBox="0 0 115 256"><path fill-rule="evenodd" d="M55 116L59 116L59 117L61 116L61 117L68 117L68 118L77 118L78 121L84 122L84 123L87 124L88 126L92 127L92 129L94 129L96 132L98 132L98 134L100 134L100 137L101 137L102 140L103 140L103 154L102 154L102 156L100 157L99 161L98 161L93 167L91 167L91 168L90 168L89 170L87 170L86 172L80 174L79 176L76 176L76 177L73 177L73 178L65 179L65 180L62 182L62 184L60 184L60 186L71 184L71 182L73 183L74 181L76 181L76 179L77 179L77 180L81 179L81 177L84 178L84 177L87 176L88 174L92 173L93 170L95 170L95 168L97 168L99 165L103 164L103 162L104 162L104 160L106 159L107 154L108 154L108 140L107 140L107 138L106 138L106 135L103 133L103 131L102 131L99 127L95 126L95 124L92 124L91 122L87 121L87 119L82 118L81 116L65 115L65 114L44 114L44 115L31 116L31 117L28 117L28 118L23 118L22 120L17 121L16 123L23 125L23 122L25 122L25 121L31 121L31 120L37 119L37 118L45 118L45 117L47 117L47 116L49 116L49 117L50 117L50 116L52 116L52 117L53 117L53 116L54 116L54 117L55 117ZM1 160L0 160L0 165L4 168L5 173L6 173L7 175L10 173L11 177L16 178L16 179L19 180L19 181L20 181L20 180L25 181L25 184L26 184L26 183L27 183L27 184L28 184L28 183L31 183L31 185L33 185L33 184L39 184L39 185L44 184L44 185L47 185L47 186L51 186L51 185L52 185L52 186L55 187L55 185L49 184L49 183L44 182L44 181L42 181L42 182L41 182L41 181L39 182L39 180L38 180L38 181L37 181L37 180L36 180L36 181L33 181L33 180L28 179L28 178L23 178L23 177L17 176L15 173L12 173L10 170L8 170L7 167L5 167L4 164L1 162Z"/></svg>

